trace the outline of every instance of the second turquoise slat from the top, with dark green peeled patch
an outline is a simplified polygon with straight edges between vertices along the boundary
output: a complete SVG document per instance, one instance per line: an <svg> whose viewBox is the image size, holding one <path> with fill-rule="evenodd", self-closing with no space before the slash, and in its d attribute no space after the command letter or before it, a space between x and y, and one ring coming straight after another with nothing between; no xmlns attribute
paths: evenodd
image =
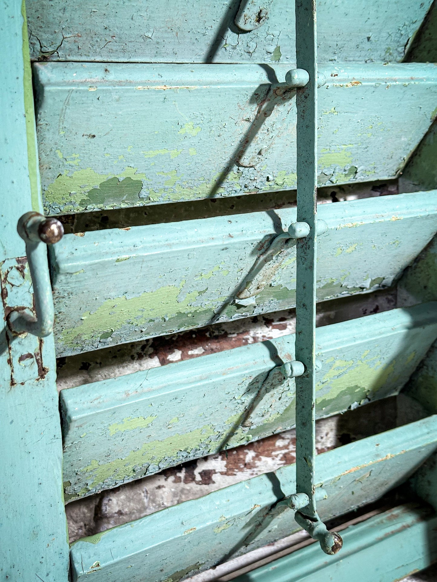
<svg viewBox="0 0 437 582"><path fill-rule="evenodd" d="M295 187L290 67L37 63L45 211ZM319 185L397 176L431 123L435 66L319 71Z"/></svg>

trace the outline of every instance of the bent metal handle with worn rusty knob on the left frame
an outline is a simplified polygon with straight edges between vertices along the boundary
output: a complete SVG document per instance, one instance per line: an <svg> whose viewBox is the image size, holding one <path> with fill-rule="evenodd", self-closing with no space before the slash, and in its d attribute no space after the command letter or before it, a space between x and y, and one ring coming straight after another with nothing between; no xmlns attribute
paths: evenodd
<svg viewBox="0 0 437 582"><path fill-rule="evenodd" d="M15 335L31 333L45 338L52 333L55 319L46 245L59 242L64 236L64 227L56 218L26 212L18 221L17 232L26 243L36 317L29 309L16 307L6 321Z"/></svg>

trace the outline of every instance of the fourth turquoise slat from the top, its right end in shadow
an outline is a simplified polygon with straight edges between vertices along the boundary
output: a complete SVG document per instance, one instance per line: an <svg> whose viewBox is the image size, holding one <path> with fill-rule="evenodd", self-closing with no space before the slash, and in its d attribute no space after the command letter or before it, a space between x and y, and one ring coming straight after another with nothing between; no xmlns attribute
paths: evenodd
<svg viewBox="0 0 437 582"><path fill-rule="evenodd" d="M318 328L316 415L399 392L437 337L437 302ZM66 499L295 424L294 335L61 392Z"/></svg>

